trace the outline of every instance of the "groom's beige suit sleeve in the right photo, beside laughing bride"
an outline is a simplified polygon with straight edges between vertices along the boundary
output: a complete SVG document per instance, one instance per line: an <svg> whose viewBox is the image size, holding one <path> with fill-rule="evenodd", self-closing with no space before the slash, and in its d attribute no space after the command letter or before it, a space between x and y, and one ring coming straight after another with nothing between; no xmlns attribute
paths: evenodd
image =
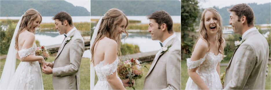
<svg viewBox="0 0 271 90"><path fill-rule="evenodd" d="M224 89L243 89L256 63L256 54L252 46L244 44L238 50L239 52L235 52L232 59L233 63L235 63L232 80L229 81Z"/></svg>

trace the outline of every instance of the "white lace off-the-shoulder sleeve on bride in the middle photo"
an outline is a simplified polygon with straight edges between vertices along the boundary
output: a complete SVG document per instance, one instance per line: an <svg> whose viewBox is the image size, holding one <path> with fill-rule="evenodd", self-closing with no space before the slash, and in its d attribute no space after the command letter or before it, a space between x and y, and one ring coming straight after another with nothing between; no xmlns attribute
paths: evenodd
<svg viewBox="0 0 271 90"><path fill-rule="evenodd" d="M111 74L116 72L117 65L118 65L118 63L117 63L117 60L116 60L111 64L104 65L103 67L100 68L100 70L102 71L103 75L110 76Z"/></svg>

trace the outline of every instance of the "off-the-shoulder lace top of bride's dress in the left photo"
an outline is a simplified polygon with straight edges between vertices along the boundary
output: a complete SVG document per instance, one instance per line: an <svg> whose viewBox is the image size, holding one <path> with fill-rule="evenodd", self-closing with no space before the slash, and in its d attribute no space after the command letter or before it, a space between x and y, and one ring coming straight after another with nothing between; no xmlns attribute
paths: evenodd
<svg viewBox="0 0 271 90"><path fill-rule="evenodd" d="M31 48L21 49L18 51L19 57L22 58L22 57L27 57L29 55L35 55L36 49L37 49L37 46L35 43L33 44L33 46Z"/></svg>

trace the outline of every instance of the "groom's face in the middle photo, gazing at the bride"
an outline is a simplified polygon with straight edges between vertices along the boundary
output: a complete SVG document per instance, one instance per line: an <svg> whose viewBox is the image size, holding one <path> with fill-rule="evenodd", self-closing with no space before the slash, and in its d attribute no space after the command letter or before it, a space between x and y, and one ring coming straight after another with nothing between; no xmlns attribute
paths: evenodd
<svg viewBox="0 0 271 90"><path fill-rule="evenodd" d="M160 27L155 19L149 19L149 29L148 31L151 34L151 40L160 40L163 36L162 28L158 29Z"/></svg>

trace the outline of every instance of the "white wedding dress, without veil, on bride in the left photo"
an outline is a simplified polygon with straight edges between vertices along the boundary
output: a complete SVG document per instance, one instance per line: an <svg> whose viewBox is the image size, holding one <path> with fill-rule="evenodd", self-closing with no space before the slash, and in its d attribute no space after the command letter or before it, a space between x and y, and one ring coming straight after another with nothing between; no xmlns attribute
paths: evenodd
<svg viewBox="0 0 271 90"><path fill-rule="evenodd" d="M20 57L35 55L36 48L37 46L34 43L31 48L19 50L18 54ZM43 89L39 61L20 62L7 89Z"/></svg>

